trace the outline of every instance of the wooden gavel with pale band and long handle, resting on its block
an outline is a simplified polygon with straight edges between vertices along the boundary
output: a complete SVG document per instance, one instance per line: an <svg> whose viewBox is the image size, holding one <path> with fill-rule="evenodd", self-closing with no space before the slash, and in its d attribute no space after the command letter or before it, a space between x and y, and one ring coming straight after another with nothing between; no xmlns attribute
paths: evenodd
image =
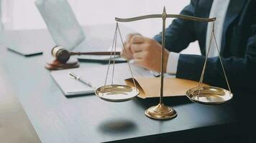
<svg viewBox="0 0 256 143"><path fill-rule="evenodd" d="M116 55L120 55L120 51L116 51ZM68 59L70 59L70 56L73 55L110 55L111 51L94 51L94 52L70 52L66 49L64 49L62 46L54 46L52 48L52 56L55 57L58 61L65 64ZM114 54L114 51L112 51L112 54Z"/></svg>

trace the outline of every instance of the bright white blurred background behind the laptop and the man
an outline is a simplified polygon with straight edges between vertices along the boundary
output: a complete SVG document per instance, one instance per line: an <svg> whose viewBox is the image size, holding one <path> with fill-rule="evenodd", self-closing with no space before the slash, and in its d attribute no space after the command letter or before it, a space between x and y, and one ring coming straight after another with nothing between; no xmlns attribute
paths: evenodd
<svg viewBox="0 0 256 143"><path fill-rule="evenodd" d="M55 1L55 0L52 0ZM114 24L114 17L127 18L143 14L161 14L166 6L168 14L178 14L189 0L68 0L81 25ZM1 29L46 29L35 0L0 0ZM172 19L168 19L167 26ZM161 31L161 20L150 19L126 23L144 36L152 37ZM193 46L193 48L191 48ZM200 54L198 44L191 44L186 53Z"/></svg>

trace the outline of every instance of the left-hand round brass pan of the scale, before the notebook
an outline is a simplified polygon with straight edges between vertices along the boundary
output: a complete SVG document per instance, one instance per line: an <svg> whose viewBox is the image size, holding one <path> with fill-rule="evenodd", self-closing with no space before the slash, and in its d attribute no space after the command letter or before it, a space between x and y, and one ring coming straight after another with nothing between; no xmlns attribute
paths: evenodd
<svg viewBox="0 0 256 143"><path fill-rule="evenodd" d="M108 102L127 102L139 95L139 90L127 85L111 84L96 89L97 97Z"/></svg>

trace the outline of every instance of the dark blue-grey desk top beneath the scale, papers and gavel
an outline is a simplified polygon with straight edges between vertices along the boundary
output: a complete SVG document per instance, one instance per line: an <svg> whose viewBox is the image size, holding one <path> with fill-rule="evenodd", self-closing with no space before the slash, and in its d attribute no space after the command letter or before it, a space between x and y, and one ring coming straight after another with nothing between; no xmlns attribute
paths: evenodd
<svg viewBox="0 0 256 143"><path fill-rule="evenodd" d="M114 32L112 26L87 26L85 29L99 34L100 38L110 37L109 40ZM33 32L35 36L45 37L40 40L40 46L50 51L54 45L50 34L46 30ZM45 53L24 57L0 47L5 80L11 83L9 88L21 102L42 142L153 142L167 138L188 141L215 137L212 134L219 136L221 132L237 132L234 127L238 119L232 102L206 106L194 104L186 97L168 97L164 102L178 112L178 117L157 121L145 117L144 112L157 104L158 99L137 98L111 103L95 95L66 98L50 77L50 71L44 68L48 56ZM90 65L81 63L88 69Z"/></svg>

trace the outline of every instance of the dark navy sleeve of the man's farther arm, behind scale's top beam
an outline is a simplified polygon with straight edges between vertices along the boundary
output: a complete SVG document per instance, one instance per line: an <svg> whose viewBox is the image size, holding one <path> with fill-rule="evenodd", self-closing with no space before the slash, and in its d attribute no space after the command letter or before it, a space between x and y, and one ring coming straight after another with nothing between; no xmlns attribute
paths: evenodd
<svg viewBox="0 0 256 143"><path fill-rule="evenodd" d="M195 1L186 6L180 14L194 16ZM188 44L196 41L195 31L193 30L193 21L174 19L172 24L168 26L165 34L165 48L169 51L180 52L186 49ZM154 39L161 44L161 33L157 34Z"/></svg>

